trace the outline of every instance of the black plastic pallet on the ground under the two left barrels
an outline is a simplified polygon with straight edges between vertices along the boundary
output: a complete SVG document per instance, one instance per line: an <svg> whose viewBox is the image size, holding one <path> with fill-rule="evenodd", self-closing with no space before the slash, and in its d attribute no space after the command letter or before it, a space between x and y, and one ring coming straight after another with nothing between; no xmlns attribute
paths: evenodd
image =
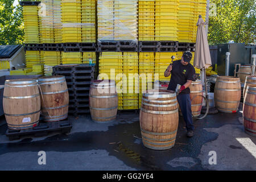
<svg viewBox="0 0 256 182"><path fill-rule="evenodd" d="M22 136L33 135L34 137L43 137L52 133L53 131L59 131L60 133L69 133L72 129L72 123L68 119L59 122L40 122L38 126L27 130L10 130L7 129L6 136L10 140L19 139Z"/></svg>

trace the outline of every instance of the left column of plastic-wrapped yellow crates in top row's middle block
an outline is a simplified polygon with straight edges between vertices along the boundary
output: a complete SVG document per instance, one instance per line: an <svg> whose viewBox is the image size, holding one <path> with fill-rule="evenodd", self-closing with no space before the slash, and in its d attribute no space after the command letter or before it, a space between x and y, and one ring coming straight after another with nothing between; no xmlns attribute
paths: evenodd
<svg viewBox="0 0 256 182"><path fill-rule="evenodd" d="M114 40L114 1L98 0L98 40Z"/></svg>

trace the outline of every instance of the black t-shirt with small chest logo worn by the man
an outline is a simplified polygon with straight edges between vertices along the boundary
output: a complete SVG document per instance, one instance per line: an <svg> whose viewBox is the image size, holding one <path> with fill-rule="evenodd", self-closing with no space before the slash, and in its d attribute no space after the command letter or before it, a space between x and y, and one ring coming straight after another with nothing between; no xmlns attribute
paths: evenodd
<svg viewBox="0 0 256 182"><path fill-rule="evenodd" d="M172 63L171 80L168 86L168 90L176 90L177 84L184 85L187 80L195 81L196 71L192 64L183 65L181 60L174 61ZM189 94L190 89L184 89L180 94Z"/></svg>

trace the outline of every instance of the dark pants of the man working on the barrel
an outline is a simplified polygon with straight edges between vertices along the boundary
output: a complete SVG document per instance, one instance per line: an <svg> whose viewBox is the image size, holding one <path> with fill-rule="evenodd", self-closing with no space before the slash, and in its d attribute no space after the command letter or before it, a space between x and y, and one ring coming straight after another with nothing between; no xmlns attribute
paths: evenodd
<svg viewBox="0 0 256 182"><path fill-rule="evenodd" d="M186 123L187 130L194 130L191 111L191 99L189 94L179 94L177 96L177 101L179 102L180 110Z"/></svg>

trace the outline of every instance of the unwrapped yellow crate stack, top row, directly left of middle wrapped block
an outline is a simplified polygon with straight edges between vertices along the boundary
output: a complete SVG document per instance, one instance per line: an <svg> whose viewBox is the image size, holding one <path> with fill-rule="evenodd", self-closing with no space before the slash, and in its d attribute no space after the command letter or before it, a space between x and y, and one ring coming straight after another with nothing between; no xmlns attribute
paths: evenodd
<svg viewBox="0 0 256 182"><path fill-rule="evenodd" d="M82 42L96 42L96 0L81 0Z"/></svg>

